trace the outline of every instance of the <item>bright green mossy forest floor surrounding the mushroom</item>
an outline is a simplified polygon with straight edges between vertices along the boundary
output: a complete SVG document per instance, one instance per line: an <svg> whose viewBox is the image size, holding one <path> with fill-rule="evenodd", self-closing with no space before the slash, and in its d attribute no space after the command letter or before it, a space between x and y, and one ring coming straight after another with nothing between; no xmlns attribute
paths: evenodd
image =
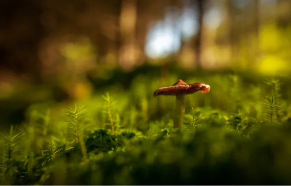
<svg viewBox="0 0 291 186"><path fill-rule="evenodd" d="M211 90L186 96L184 127L173 129L175 98L153 92L179 78ZM67 110L33 104L21 127L1 133L1 184L290 185L288 82L250 73L161 82L144 74L128 87L97 86Z"/></svg>

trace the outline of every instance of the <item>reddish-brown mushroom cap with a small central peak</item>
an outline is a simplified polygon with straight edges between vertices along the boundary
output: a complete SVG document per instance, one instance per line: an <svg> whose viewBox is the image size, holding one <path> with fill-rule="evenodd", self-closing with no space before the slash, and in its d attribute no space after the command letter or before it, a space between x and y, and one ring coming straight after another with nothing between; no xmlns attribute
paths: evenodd
<svg viewBox="0 0 291 186"><path fill-rule="evenodd" d="M179 79L173 86L161 87L154 92L154 97L158 95L181 95L196 92L208 93L210 86L205 83L187 84Z"/></svg>

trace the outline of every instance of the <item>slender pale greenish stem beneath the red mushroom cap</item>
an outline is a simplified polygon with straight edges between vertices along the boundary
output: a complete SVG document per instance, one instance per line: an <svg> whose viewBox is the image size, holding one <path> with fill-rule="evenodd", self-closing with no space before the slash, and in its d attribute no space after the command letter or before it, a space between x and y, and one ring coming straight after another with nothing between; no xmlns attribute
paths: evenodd
<svg viewBox="0 0 291 186"><path fill-rule="evenodd" d="M182 127L185 113L185 94L176 95L174 128Z"/></svg>

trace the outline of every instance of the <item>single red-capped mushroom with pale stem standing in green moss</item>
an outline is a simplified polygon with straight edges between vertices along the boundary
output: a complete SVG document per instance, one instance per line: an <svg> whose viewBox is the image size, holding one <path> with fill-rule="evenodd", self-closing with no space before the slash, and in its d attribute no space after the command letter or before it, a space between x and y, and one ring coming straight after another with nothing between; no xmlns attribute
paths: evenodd
<svg viewBox="0 0 291 186"><path fill-rule="evenodd" d="M196 92L208 93L210 86L205 83L193 83L187 84L186 82L179 79L174 85L169 87L161 87L154 92L154 97L158 95L175 95L175 117L174 117L174 128L183 126L184 113L185 113L185 94L196 93Z"/></svg>

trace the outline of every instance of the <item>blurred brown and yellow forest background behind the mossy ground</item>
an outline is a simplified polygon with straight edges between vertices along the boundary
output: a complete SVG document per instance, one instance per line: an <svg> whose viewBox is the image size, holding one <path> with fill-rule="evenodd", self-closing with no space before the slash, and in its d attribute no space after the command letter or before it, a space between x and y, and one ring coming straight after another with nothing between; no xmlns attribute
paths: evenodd
<svg viewBox="0 0 291 186"><path fill-rule="evenodd" d="M290 48L291 0L0 0L0 122L171 67L289 76Z"/></svg>

